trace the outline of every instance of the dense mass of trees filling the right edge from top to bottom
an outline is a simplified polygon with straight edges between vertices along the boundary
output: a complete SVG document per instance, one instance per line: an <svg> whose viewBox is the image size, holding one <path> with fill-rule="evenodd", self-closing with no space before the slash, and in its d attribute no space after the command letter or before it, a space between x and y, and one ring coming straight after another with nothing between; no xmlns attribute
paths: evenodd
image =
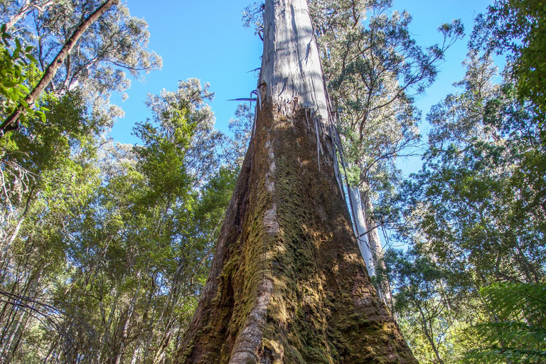
<svg viewBox="0 0 546 364"><path fill-rule="evenodd" d="M379 278L421 363L546 362L543 10L478 16L461 91L427 115L422 170L382 200L407 250L388 250Z"/></svg>

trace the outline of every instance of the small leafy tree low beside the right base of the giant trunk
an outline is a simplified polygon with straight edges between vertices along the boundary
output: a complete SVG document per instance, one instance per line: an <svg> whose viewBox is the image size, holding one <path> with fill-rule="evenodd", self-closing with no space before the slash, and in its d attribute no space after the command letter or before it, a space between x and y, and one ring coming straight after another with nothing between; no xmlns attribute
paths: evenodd
<svg viewBox="0 0 546 364"><path fill-rule="evenodd" d="M469 313L463 304L468 292L450 282L456 273L417 250L387 250L380 263L374 279L390 282L391 309L415 358L423 364L454 363L457 353L451 341L457 319Z"/></svg>

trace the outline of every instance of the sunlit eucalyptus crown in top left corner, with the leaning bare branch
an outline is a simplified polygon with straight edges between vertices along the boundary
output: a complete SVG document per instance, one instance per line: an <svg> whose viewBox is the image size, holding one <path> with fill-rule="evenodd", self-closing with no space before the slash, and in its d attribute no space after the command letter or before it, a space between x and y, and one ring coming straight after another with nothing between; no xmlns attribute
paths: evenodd
<svg viewBox="0 0 546 364"><path fill-rule="evenodd" d="M16 1L4 4L6 9L16 9L8 23L33 46L43 72L21 105L33 105L46 87L55 95L82 87L92 112L113 118L119 112L109 107L109 94L129 87L126 73L139 77L161 67L161 58L146 50L146 22L130 16L117 0L26 1L18 5ZM16 127L21 112L18 108L4 120L4 132Z"/></svg>

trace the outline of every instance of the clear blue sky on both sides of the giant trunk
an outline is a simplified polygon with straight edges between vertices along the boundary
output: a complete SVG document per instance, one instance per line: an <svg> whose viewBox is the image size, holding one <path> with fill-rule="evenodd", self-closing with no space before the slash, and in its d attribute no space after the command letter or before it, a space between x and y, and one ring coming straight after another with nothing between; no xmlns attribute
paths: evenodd
<svg viewBox="0 0 546 364"><path fill-rule="evenodd" d="M242 9L251 3L252 0L157 0L153 3L127 0L131 14L149 23L149 48L161 55L164 66L146 75L145 82L133 80L127 101L120 102L119 97L113 97L125 111L124 119L119 119L112 130L114 140L137 142L131 129L135 122L150 117L144 105L146 95L158 94L163 89L176 90L178 80L188 77L210 83L210 90L215 92L212 107L217 127L226 130L237 107L237 102L228 100L249 97L256 87L256 79L254 73L248 71L261 63L262 42L252 29L243 28L241 21ZM427 46L441 42L437 27L455 18L461 18L469 33L473 18L485 11L488 4L490 0L395 0L394 9L406 9L412 14L410 31L419 44ZM446 62L440 66L437 82L419 98L418 107L423 117L432 105L454 92L451 84L464 75L461 61L466 55L467 41L468 37L449 50ZM423 125L422 134L426 131L427 126ZM414 160L402 165L407 171L419 168Z"/></svg>

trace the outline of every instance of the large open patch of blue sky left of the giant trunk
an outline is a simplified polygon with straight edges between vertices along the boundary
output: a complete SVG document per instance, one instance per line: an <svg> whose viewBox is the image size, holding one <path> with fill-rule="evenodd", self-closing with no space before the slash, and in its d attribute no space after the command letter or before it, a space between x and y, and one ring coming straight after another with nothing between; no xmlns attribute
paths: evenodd
<svg viewBox="0 0 546 364"><path fill-rule="evenodd" d="M133 80L125 102L112 98L125 111L124 119L114 124L114 140L136 142L132 125L151 117L144 105L146 95L176 90L178 80L190 77L210 83L217 127L226 130L238 105L227 100L250 97L256 78L247 72L261 65L262 42L241 21L242 9L251 0L127 0L126 4L132 16L148 22L149 48L161 55L163 69L146 75L145 82Z"/></svg>

